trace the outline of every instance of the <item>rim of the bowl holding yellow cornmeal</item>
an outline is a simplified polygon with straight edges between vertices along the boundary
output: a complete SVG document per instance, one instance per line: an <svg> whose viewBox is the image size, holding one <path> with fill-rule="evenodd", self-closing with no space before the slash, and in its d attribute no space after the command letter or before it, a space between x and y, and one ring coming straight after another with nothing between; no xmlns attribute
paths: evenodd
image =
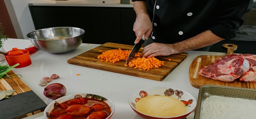
<svg viewBox="0 0 256 119"><path fill-rule="evenodd" d="M189 92L187 92L187 91L185 91L185 90L183 90L183 89L176 88L176 87L170 87L170 86L153 86L153 87L141 88L141 89L139 89L139 90L134 91L134 92L130 95L130 97L129 97L129 105L130 105L130 107L131 107L134 111L136 111L136 112L138 112L138 113L140 113L140 114L142 114L142 115L146 115L146 116L149 116L149 117L155 117L155 118L163 118L163 119L165 119L165 118L170 119L170 118L182 117L182 116L185 116L185 115L190 114L191 112L193 112L193 111L195 110L195 108L196 108L197 106L195 106L194 108L192 108L191 111L186 112L186 113L184 113L184 114L182 114L182 115L171 116L171 117L159 117L159 116L152 116L152 115L148 115L148 114L142 113L142 112L138 111L136 108L134 108L134 107L131 105L131 97L132 97L132 95L134 95L136 92L139 92L139 91L145 90L145 89L149 89L149 88L164 88L164 87L166 87L166 88L175 88L175 89L177 89L177 90L181 90L181 91L183 91L183 92L186 92L189 96L193 97L193 99L194 99L194 101L195 101L194 104L197 105L197 100L196 100L196 98L195 98L193 95L191 95Z"/></svg>

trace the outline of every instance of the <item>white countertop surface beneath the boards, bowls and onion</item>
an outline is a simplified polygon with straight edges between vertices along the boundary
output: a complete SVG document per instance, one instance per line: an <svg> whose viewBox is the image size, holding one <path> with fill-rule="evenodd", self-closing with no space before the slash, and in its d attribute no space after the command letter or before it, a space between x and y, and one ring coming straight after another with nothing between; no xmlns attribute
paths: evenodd
<svg viewBox="0 0 256 119"><path fill-rule="evenodd" d="M12 48L25 49L32 45L27 39L11 39L5 41L3 48L10 51ZM198 98L199 89L194 88L189 83L188 70L191 62L199 55L225 55L225 53L189 51L188 57L177 66L163 81L154 81L144 78L133 77L119 73L102 71L67 63L72 57L93 49L97 44L81 44L77 49L62 53L53 54L44 51L37 51L30 55L32 64L24 68L14 68L15 74L22 75L22 79L46 104L54 101L43 95L45 86L38 83L43 77L50 77L58 74L59 79L52 80L50 83L61 83L67 88L66 95L76 93L91 93L103 95L111 99L115 104L115 113L111 119L142 119L134 113L129 106L130 95L141 88L154 86L170 86L186 90ZM5 61L5 60L4 60ZM3 62L3 61L1 61ZM7 64L5 61L4 64ZM76 74L80 74L77 76ZM32 115L26 119L43 119L42 113ZM125 117L125 118L124 118ZM187 119L193 119L191 113Z"/></svg>

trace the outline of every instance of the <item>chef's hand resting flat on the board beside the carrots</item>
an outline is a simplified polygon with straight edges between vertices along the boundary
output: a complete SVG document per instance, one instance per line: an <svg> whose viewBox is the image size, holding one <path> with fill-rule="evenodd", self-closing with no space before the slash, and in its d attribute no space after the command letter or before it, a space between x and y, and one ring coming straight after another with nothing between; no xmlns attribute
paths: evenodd
<svg viewBox="0 0 256 119"><path fill-rule="evenodd" d="M176 53L177 51L173 49L172 44L152 43L144 47L139 57L168 56Z"/></svg>

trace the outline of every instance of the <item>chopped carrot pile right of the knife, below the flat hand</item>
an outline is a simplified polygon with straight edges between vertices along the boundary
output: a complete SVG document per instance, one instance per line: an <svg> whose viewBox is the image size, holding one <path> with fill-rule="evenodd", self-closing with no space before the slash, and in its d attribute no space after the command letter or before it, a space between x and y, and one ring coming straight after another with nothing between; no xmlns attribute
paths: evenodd
<svg viewBox="0 0 256 119"><path fill-rule="evenodd" d="M134 69L139 68L139 70L150 70L152 68L159 68L163 65L163 61L159 61L155 57L142 57L142 58L133 58L128 65L125 66L134 67Z"/></svg>

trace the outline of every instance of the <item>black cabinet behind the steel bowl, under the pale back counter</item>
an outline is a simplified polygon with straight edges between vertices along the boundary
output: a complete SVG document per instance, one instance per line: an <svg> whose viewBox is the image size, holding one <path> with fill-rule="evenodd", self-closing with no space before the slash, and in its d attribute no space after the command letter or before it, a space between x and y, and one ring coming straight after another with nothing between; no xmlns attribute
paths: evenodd
<svg viewBox="0 0 256 119"><path fill-rule="evenodd" d="M29 5L35 29L77 27L85 30L83 43L134 45L133 8Z"/></svg>

